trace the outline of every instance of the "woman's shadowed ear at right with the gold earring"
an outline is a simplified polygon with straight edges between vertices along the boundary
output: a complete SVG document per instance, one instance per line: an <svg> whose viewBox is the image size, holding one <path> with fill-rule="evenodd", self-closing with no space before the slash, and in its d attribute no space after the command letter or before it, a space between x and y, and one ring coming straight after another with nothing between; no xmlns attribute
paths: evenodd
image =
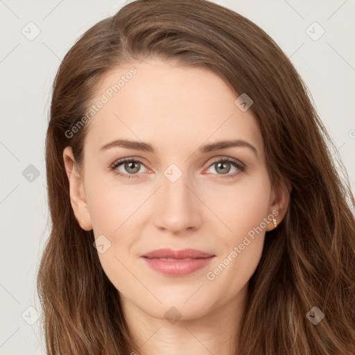
<svg viewBox="0 0 355 355"><path fill-rule="evenodd" d="M290 183L280 182L272 189L270 215L275 218L277 225L281 223L286 215L288 204L290 203L292 187ZM269 218L268 218L269 219ZM275 225L272 220L268 223L266 230L275 229Z"/></svg>

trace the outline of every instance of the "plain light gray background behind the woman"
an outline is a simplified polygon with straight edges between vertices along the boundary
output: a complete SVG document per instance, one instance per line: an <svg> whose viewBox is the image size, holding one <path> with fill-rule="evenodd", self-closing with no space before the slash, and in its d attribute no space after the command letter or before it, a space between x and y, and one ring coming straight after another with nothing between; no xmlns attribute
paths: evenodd
<svg viewBox="0 0 355 355"><path fill-rule="evenodd" d="M214 2L261 26L291 58L336 143L354 191L355 1ZM0 0L0 354L44 354L40 321L28 322L35 321L35 309L41 313L35 277L49 236L44 138L51 85L60 60L79 35L123 3ZM32 41L21 33L35 33L30 21L40 29ZM316 41L309 34L318 37L322 30L309 28L314 21L325 31ZM30 164L40 174L32 182L26 175L33 171Z"/></svg>

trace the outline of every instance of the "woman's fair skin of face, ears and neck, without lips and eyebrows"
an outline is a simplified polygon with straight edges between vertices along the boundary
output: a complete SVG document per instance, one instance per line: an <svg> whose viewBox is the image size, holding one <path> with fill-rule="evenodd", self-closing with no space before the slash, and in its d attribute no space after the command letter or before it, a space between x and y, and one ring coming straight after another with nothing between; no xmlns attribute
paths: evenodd
<svg viewBox="0 0 355 355"><path fill-rule="evenodd" d="M142 354L231 354L248 281L272 221L215 279L207 279L207 272L273 210L280 223L288 191L271 187L252 110L241 111L236 94L207 69L158 58L130 62L107 73L94 102L132 66L137 74L87 123L81 175L73 169L71 147L63 152L73 211L84 230L111 243L98 257L121 295ZM144 141L155 153L122 147L99 152L114 139ZM204 144L229 139L247 141L257 154L245 146L198 153ZM110 170L125 157L141 160L136 178ZM227 163L223 174L212 161L218 157L238 159L246 168ZM170 164L182 172L175 182L164 175ZM116 170L134 175L124 163ZM140 258L159 248L193 248L216 257L190 275L169 277ZM171 310L173 315L181 315L175 324L164 316L171 307L178 310Z"/></svg>

